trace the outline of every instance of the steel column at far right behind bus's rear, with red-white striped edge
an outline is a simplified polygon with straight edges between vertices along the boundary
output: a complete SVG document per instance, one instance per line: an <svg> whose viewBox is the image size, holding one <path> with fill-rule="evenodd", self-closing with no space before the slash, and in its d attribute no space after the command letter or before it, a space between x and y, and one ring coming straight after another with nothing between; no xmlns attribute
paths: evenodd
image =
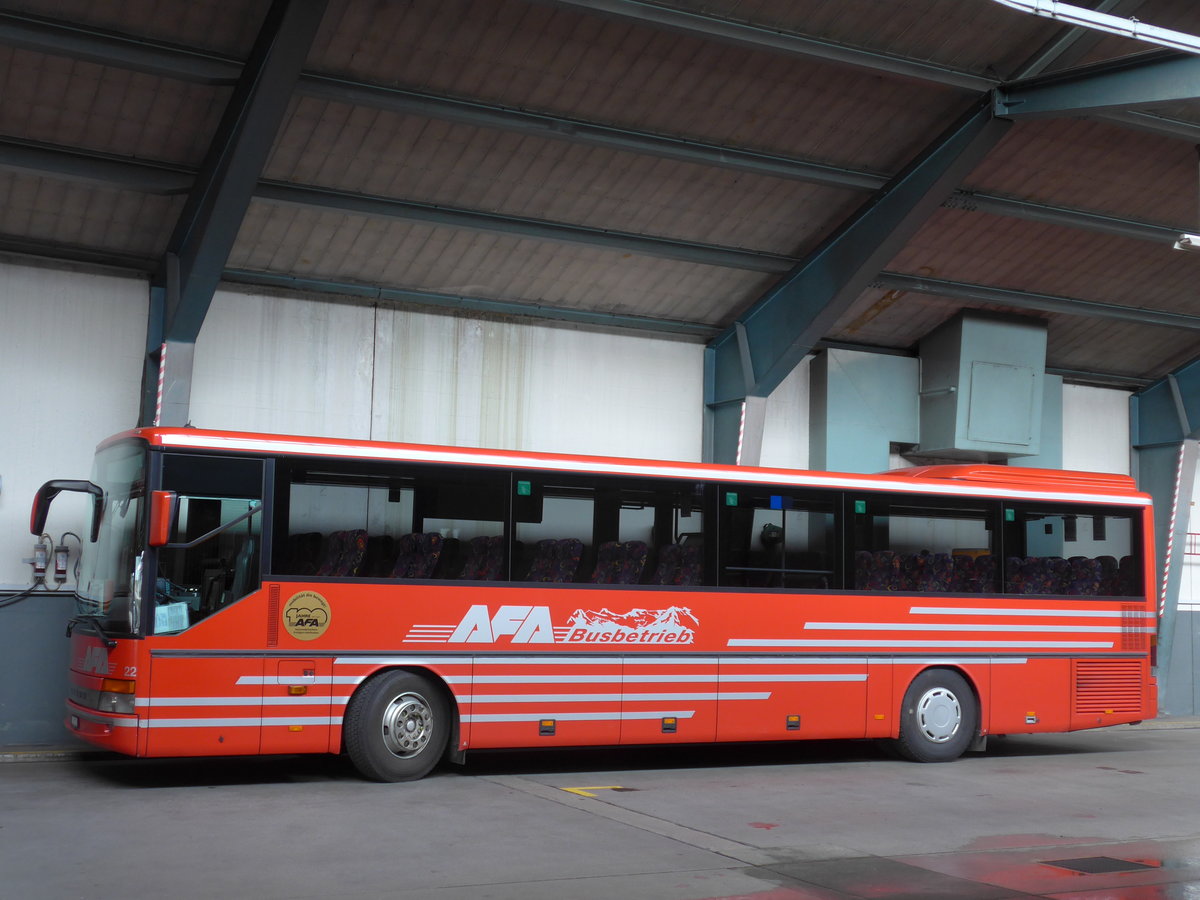
<svg viewBox="0 0 1200 900"><path fill-rule="evenodd" d="M1174 649L1190 638L1177 635L1176 624L1200 460L1200 359L1134 394L1129 410L1138 486L1154 498L1159 708L1165 714L1192 715L1196 713L1193 662L1178 661Z"/></svg>

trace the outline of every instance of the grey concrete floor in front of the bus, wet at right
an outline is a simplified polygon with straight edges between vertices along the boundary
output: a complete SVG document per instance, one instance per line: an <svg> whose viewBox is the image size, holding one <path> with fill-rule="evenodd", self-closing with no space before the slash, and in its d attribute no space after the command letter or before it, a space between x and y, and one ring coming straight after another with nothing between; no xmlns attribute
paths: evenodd
<svg viewBox="0 0 1200 900"><path fill-rule="evenodd" d="M950 764L841 742L490 754L407 785L331 757L8 758L13 900L1200 898L1196 719Z"/></svg>

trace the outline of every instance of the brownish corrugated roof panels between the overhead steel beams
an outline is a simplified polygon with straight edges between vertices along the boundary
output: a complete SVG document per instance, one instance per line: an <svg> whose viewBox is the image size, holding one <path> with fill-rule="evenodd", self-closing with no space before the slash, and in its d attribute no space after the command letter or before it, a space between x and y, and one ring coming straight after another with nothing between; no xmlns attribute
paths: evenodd
<svg viewBox="0 0 1200 900"><path fill-rule="evenodd" d="M331 199L324 208L302 197L252 200L228 266L310 287L436 292L715 329L835 233L870 200L871 185L900 172L984 86L1020 76L1031 60L1052 72L1146 49L1085 36L1043 58L1062 29L991 0L660 5L697 28L647 20L644 4L608 6L332 0L304 68L341 80L323 82L320 96L311 83L298 88L262 173ZM25 0L8 10L0 13L0 250L152 265L185 198L138 188L138 167L164 163L187 179L204 164L233 95L230 61L248 55L268 4ZM1200 32L1200 5L1189 0L1145 0L1136 14ZM746 26L776 46L738 31ZM30 28L49 37L31 41L22 30ZM178 59L176 71L148 64L148 53ZM378 89L408 94L380 98ZM1138 112L1177 121L1018 122L961 184L1016 200L1012 215L960 198L886 269L1200 323L1200 254L1172 251L1166 239L1174 228L1200 230L1200 128L1188 125L1200 122L1200 103ZM517 113L542 118L516 127ZM746 151L758 168L748 168ZM97 160L106 166L89 178ZM106 182L114 161L128 178ZM815 184L814 164L842 186ZM358 196L491 218L416 221L386 204L366 210ZM1034 204L1056 208L1058 223L1036 221ZM547 230L530 236L512 217ZM1163 239L1121 236L1123 222L1163 226L1147 233ZM619 244L604 244L613 235ZM664 251L666 241L689 246L692 262ZM1200 331L1187 328L886 287L863 292L826 337L912 348L964 306L1045 319L1058 368L1152 378L1200 354Z"/></svg>

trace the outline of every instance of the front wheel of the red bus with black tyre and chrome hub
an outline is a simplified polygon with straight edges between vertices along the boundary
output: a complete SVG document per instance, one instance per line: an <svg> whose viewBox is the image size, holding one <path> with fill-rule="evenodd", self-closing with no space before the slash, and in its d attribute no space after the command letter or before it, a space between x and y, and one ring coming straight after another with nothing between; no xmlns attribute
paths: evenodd
<svg viewBox="0 0 1200 900"><path fill-rule="evenodd" d="M430 678L391 670L367 680L346 706L346 752L373 781L414 781L442 758L450 737L445 692Z"/></svg>

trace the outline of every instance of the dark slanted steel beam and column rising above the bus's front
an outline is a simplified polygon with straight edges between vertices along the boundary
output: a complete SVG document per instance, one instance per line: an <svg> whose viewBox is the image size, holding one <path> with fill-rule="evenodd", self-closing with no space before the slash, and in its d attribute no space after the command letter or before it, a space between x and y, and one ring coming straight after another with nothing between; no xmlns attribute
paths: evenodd
<svg viewBox="0 0 1200 900"><path fill-rule="evenodd" d="M182 425L187 420L192 354L172 348L193 343L200 331L324 13L325 0L275 0L266 12L151 290L151 306L161 304L161 310L151 311L146 341L151 350L143 376L143 424L155 419L156 407L145 398L158 394L163 378L184 402L169 406L169 419L168 410L160 409L160 421ZM167 260L173 258L178 282L166 290ZM168 347L164 372L160 372L155 347Z"/></svg>

